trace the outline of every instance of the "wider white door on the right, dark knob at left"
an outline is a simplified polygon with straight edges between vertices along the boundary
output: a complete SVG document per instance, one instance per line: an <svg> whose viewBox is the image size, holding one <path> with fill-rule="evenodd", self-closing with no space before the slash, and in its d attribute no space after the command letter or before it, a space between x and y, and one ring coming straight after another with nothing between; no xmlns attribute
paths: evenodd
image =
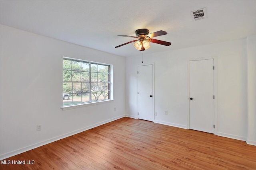
<svg viewBox="0 0 256 170"><path fill-rule="evenodd" d="M189 127L214 133L214 59L189 61Z"/></svg>

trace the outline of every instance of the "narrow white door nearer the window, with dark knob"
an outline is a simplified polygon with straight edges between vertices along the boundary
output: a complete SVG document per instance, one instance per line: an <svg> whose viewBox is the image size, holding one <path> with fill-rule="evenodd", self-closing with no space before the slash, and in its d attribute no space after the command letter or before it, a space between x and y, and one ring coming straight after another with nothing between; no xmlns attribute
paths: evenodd
<svg viewBox="0 0 256 170"><path fill-rule="evenodd" d="M138 66L138 118L154 120L153 65Z"/></svg>

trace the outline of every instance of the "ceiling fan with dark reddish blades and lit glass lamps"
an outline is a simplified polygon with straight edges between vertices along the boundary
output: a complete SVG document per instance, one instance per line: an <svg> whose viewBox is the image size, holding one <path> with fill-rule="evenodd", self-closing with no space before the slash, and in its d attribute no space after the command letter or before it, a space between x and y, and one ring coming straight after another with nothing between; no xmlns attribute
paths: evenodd
<svg viewBox="0 0 256 170"><path fill-rule="evenodd" d="M148 33L149 33L148 29L137 29L135 31L136 37L130 36L130 35L118 35L118 36L121 36L121 37L136 38L136 40L118 45L115 48L118 48L118 47L121 47L123 45L130 44L130 43L134 42L133 45L137 50L144 51L144 50L147 50L147 49L150 48L150 42L151 43L157 43L157 44L160 44L160 45L165 45L165 46L169 46L169 45L172 44L170 42L161 41L161 40L158 40L158 39L152 39L153 37L157 37L157 36L160 36L160 35L166 35L167 34L166 31L161 30L161 31L156 31L154 33L150 33L150 34L148 34Z"/></svg>

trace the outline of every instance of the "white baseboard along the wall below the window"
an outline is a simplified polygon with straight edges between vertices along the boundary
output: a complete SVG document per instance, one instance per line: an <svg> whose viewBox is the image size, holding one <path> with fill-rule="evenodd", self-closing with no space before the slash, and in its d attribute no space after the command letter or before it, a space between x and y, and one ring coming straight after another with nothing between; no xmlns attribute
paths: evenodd
<svg viewBox="0 0 256 170"><path fill-rule="evenodd" d="M100 123L96 123L94 125L90 125L88 127L84 127L82 129L78 129L76 131L72 131L70 133L66 133L64 135L60 135L58 137L54 137L52 139L48 139L46 141L42 141L42 142L39 142L39 143L36 143L36 144L33 144L33 145L30 145L30 146L27 146L27 147L24 147L24 148L21 148L21 149L17 149L17 150L14 150L14 151L11 151L11 152L8 152L8 153L5 153L5 154L1 154L0 155L0 160L3 160L3 159L6 159L6 158L10 158L11 156L14 156L14 155L17 155L17 154L20 154L20 153L23 153L23 152L26 152L28 150L31 150L31 149L35 149L35 148L38 148L38 147L41 147L43 145L46 145L48 143L52 143L52 142L55 142L55 141L58 141L60 139L63 139L63 138L66 138L66 137L69 137L69 136L72 136L72 135L75 135L77 133L81 133L83 131L87 131L89 129L92 129L94 127L97 127L97 126L100 126L100 125L104 125L106 123L109 123L111 121L114 121L114 120L117 120L117 119L120 119L122 117L125 117L125 115L120 115L120 116L117 116L117 117L114 117L112 119L108 119L106 121L102 121Z"/></svg>

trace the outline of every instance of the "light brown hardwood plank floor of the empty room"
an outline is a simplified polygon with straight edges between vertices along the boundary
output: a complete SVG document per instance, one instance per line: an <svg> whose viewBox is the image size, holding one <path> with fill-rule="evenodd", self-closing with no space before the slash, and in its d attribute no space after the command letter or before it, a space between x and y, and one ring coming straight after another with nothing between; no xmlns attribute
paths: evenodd
<svg viewBox="0 0 256 170"><path fill-rule="evenodd" d="M1 170L256 170L256 146L124 117L6 160L35 164Z"/></svg>

